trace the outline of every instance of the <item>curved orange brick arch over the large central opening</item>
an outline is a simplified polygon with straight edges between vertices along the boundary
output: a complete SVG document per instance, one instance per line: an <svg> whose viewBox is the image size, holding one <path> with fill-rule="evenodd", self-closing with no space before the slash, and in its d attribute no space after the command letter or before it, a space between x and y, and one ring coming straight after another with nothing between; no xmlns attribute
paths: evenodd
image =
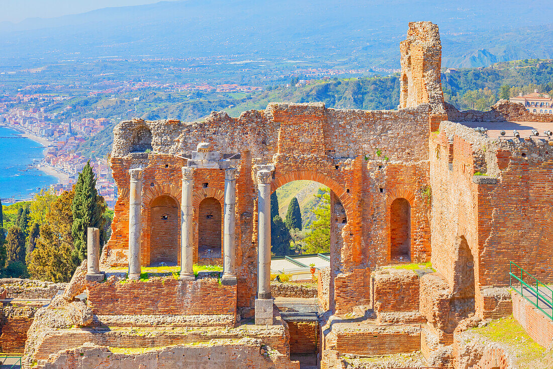
<svg viewBox="0 0 553 369"><path fill-rule="evenodd" d="M293 181L313 181L324 184L331 189L338 199L340 199L346 211L347 219L349 220L351 218L353 214L353 199L351 195L346 192L346 189L340 183L322 173L315 171L294 171L286 173L285 175L275 178L273 182L271 182L271 193L275 192L280 186Z"/></svg>

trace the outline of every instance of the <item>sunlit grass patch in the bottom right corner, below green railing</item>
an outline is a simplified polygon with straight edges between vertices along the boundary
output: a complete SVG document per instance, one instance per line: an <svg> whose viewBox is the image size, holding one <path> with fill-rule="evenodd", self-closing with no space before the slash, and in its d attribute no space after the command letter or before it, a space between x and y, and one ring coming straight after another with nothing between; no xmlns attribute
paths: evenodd
<svg viewBox="0 0 553 369"><path fill-rule="evenodd" d="M486 337L490 341L510 346L513 349L512 352L516 352L515 361L520 368L526 368L529 365L531 367L538 367L534 366L537 364L536 360L542 358L544 360L548 358L551 360L553 358L553 352L551 351L544 356L544 347L536 344L512 315L494 320L486 326L473 328L469 331Z"/></svg>

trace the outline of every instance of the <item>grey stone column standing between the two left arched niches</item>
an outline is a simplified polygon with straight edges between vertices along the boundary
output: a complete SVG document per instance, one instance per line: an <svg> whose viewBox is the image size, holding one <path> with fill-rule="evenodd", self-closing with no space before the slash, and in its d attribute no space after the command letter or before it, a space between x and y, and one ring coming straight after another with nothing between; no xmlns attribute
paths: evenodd
<svg viewBox="0 0 553 369"><path fill-rule="evenodd" d="M194 280L194 245L192 244L192 186L194 168L182 167L182 192L180 202L180 276L181 280Z"/></svg>

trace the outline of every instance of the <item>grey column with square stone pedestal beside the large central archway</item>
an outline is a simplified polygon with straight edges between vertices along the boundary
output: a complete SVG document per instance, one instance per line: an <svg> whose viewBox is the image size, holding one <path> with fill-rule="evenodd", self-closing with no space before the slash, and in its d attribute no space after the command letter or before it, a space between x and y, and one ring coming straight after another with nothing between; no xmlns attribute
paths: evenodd
<svg viewBox="0 0 553 369"><path fill-rule="evenodd" d="M257 299L255 300L255 324L273 324L273 299L271 298L271 171L257 172L258 247L257 247Z"/></svg>

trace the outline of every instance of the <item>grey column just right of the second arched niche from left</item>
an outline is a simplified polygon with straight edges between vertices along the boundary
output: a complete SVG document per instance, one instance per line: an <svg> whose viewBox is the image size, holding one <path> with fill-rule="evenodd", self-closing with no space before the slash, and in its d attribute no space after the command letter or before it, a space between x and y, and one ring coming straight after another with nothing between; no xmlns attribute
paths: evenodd
<svg viewBox="0 0 553 369"><path fill-rule="evenodd" d="M223 278L222 283L237 283L234 273L234 210L236 209L236 168L225 170L225 218L223 237Z"/></svg>

